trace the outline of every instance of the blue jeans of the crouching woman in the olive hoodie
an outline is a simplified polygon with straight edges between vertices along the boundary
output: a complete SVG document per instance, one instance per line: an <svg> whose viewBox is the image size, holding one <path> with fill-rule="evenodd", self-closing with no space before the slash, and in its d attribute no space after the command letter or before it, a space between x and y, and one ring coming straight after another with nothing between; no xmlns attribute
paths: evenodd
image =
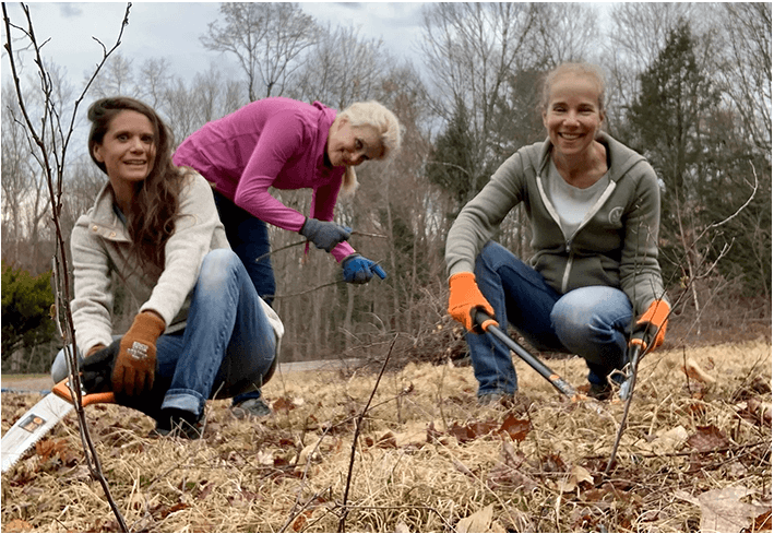
<svg viewBox="0 0 774 534"><path fill-rule="evenodd" d="M607 383L607 376L626 364L633 311L622 290L588 286L560 295L540 273L493 241L476 258L474 274L503 329L510 322L538 351L582 356L591 383ZM508 347L487 334L467 333L465 340L478 395L514 393L519 385Z"/></svg>

